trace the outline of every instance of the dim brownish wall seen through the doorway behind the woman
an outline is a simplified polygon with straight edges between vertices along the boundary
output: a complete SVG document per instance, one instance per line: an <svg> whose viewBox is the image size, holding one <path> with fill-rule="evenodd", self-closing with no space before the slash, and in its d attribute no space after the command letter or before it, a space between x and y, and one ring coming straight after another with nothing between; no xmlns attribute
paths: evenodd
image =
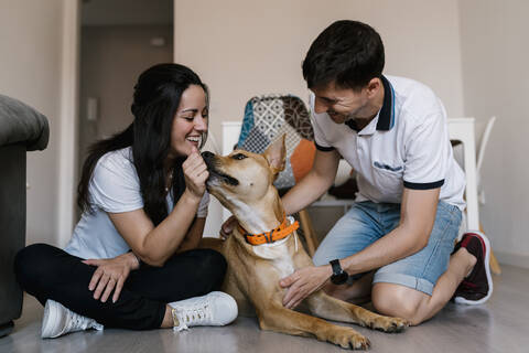
<svg viewBox="0 0 529 353"><path fill-rule="evenodd" d="M151 45L163 39L164 45ZM172 25L84 25L82 28L79 165L96 139L132 122L130 105L138 76L151 65L173 60ZM87 119L87 98L97 98L97 120ZM80 168L79 168L80 171Z"/></svg>

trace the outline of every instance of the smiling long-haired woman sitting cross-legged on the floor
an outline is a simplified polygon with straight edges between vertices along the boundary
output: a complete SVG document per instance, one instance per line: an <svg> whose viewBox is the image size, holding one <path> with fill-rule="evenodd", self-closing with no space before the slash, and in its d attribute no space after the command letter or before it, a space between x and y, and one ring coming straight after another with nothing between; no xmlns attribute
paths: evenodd
<svg viewBox="0 0 529 353"><path fill-rule="evenodd" d="M20 285L45 306L43 338L101 324L180 331L237 317L231 297L210 292L225 259L196 249L209 202L198 153L206 86L185 66L159 64L140 75L131 110L126 130L90 149L78 186L83 215L66 248L35 244L17 255Z"/></svg>

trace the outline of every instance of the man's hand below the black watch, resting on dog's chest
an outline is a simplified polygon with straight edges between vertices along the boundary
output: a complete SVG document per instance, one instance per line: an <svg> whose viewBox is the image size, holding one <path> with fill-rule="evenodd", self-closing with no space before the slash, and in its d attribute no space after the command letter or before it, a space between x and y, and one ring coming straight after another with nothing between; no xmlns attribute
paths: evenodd
<svg viewBox="0 0 529 353"><path fill-rule="evenodd" d="M293 309L325 285L333 274L331 265L303 267L279 281L283 288L289 288L283 297L283 306Z"/></svg>

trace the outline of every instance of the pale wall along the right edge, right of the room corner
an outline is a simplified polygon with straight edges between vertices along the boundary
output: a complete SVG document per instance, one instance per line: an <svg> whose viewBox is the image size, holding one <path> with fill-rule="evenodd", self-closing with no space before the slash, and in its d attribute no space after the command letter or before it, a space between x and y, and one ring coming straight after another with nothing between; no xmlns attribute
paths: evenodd
<svg viewBox="0 0 529 353"><path fill-rule="evenodd" d="M464 111L496 115L482 170L481 221L500 263L529 267L529 2L460 1Z"/></svg>

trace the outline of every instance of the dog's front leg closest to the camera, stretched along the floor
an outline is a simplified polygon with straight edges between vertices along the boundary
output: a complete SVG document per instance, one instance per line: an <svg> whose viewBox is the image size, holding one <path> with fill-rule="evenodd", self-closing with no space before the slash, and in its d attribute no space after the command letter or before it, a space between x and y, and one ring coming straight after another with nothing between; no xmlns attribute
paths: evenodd
<svg viewBox="0 0 529 353"><path fill-rule="evenodd" d="M331 342L344 349L367 350L370 345L367 338L352 328L339 327L283 307L268 307L257 312L262 330L315 336L320 341Z"/></svg>

